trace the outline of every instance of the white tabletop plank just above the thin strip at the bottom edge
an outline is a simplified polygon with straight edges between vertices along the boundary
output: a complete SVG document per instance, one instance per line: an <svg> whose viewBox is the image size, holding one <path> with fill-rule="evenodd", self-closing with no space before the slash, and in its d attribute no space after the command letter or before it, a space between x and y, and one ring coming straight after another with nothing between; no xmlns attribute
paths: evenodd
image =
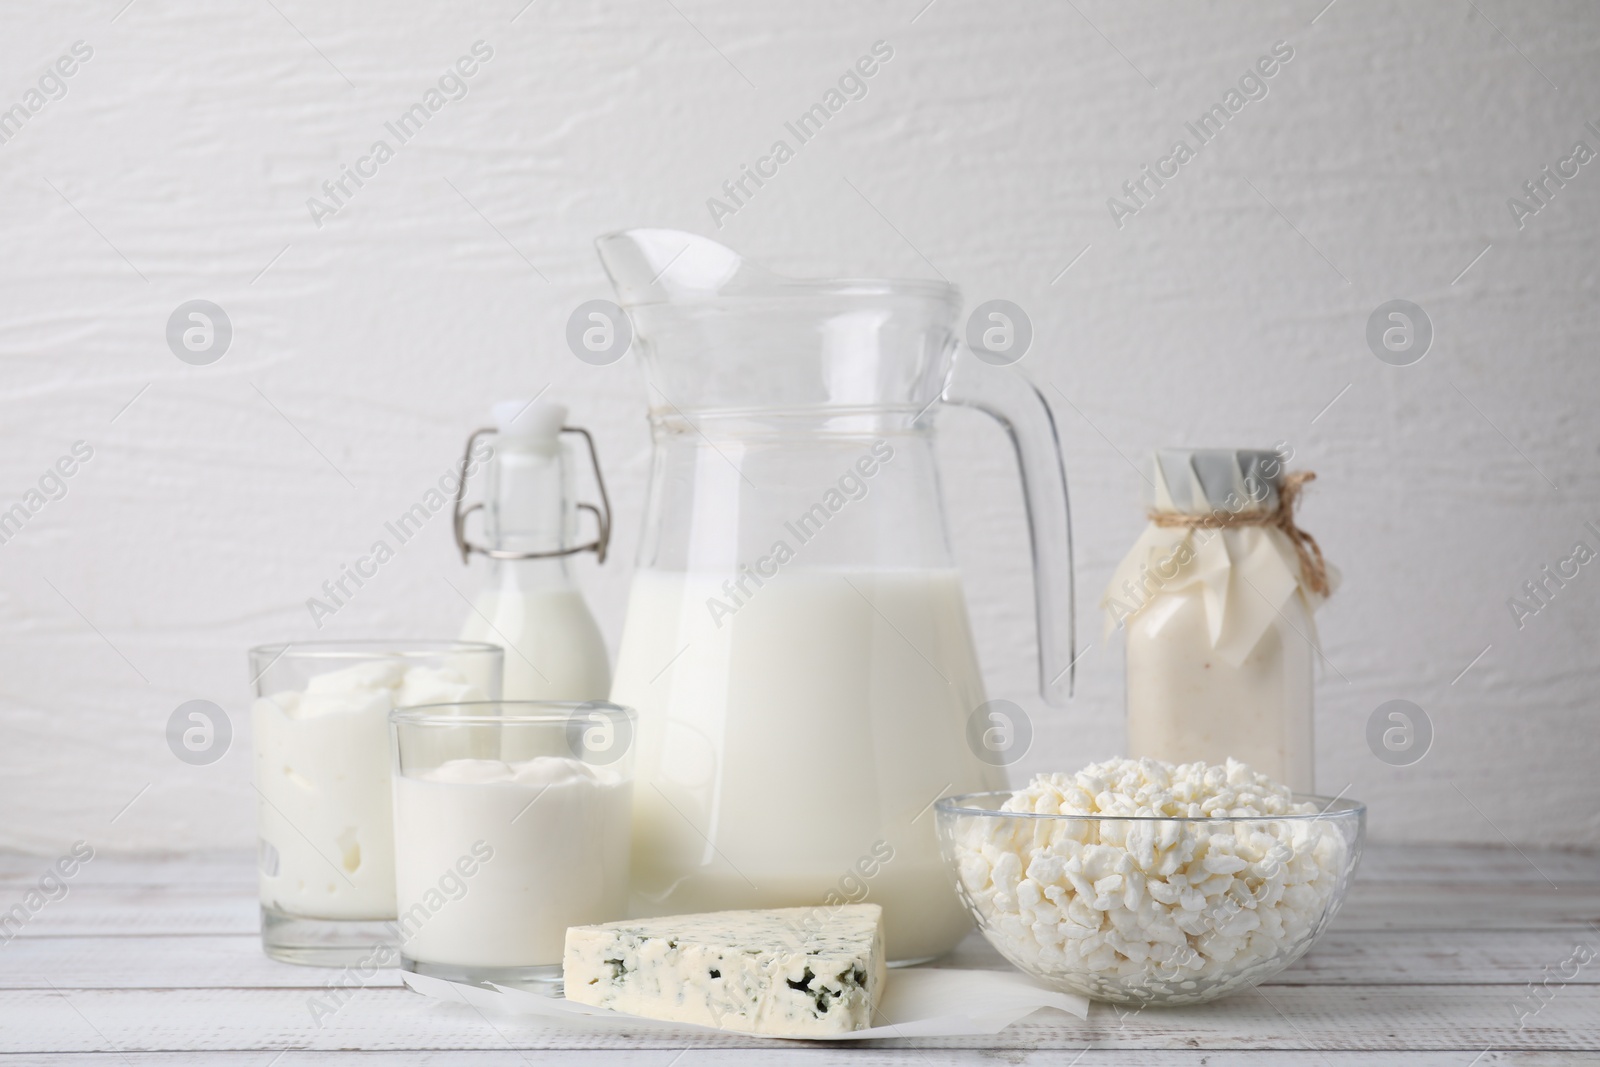
<svg viewBox="0 0 1600 1067"><path fill-rule="evenodd" d="M304 989L11 990L0 1051L771 1048L742 1035L594 1030L486 1017L405 989L365 989L318 1025ZM989 1037L910 1038L890 1048L1123 1049L1600 1049L1600 987L1560 990L1517 1029L1515 985L1275 987L1194 1008L1086 1022L1043 1011ZM1470 1059L1470 1056L1469 1056Z"/></svg>

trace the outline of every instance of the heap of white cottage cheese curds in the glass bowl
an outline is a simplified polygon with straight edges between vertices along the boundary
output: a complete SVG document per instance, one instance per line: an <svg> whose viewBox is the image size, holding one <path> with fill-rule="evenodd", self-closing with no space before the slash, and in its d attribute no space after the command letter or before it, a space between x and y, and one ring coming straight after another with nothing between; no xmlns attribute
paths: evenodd
<svg viewBox="0 0 1600 1067"><path fill-rule="evenodd" d="M1117 819L962 819L962 893L1019 966L1090 997L1182 1001L1299 955L1346 869L1347 845L1288 787L1226 765L1109 760L1040 774L1002 811Z"/></svg>

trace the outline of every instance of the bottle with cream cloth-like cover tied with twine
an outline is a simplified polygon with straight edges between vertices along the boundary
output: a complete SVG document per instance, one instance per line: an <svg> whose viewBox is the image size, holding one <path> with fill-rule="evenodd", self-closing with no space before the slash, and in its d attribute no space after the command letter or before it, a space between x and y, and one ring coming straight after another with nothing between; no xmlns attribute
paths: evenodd
<svg viewBox="0 0 1600 1067"><path fill-rule="evenodd" d="M1242 760L1312 792L1312 613L1338 574L1294 523L1310 472L1254 450L1160 450L1150 525L1112 574L1107 633L1126 630L1128 755Z"/></svg>

